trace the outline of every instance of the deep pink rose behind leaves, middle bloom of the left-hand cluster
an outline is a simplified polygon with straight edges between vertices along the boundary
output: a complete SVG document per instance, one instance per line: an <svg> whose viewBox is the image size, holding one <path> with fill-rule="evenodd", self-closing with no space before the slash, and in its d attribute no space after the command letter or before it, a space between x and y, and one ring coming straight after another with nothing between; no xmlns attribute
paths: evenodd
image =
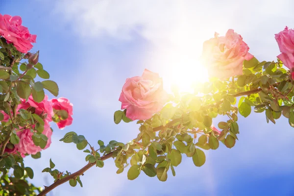
<svg viewBox="0 0 294 196"><path fill-rule="evenodd" d="M35 114L37 115L47 115L45 121L51 122L53 114L53 108L51 105L51 102L48 100L48 96L46 95L43 101L40 103L34 101L32 96L29 96L27 99L27 102L25 102L25 99L21 98L21 104L18 105L17 111L19 109L25 109L27 110L29 107L35 108Z"/></svg>

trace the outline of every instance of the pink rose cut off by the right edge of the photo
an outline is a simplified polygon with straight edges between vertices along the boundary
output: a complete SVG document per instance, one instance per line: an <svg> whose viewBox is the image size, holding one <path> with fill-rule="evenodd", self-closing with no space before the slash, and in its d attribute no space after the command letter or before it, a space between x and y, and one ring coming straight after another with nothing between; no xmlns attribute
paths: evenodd
<svg viewBox="0 0 294 196"><path fill-rule="evenodd" d="M282 52L277 57L287 68L294 68L294 30L286 26L283 31L275 34L275 39Z"/></svg>

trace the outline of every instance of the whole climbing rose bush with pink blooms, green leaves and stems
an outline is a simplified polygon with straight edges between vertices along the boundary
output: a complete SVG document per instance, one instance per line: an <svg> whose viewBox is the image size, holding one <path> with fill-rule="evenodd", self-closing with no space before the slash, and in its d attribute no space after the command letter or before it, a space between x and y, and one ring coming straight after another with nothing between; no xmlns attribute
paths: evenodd
<svg viewBox="0 0 294 196"><path fill-rule="evenodd" d="M34 173L23 157L41 157L51 144L49 123L60 129L71 125L73 104L67 98L48 100L44 90L57 97L58 85L39 63L39 51L28 52L36 36L21 24L20 17L0 15L0 195L45 196L67 181L83 186L80 176L93 166L102 168L108 158L114 159L117 173L130 166L130 180L144 172L166 181L168 172L175 176L182 156L201 167L206 161L203 150L216 150L220 143L234 147L240 133L238 119L250 115L252 107L256 113L264 112L268 123L283 115L294 127L293 30L286 27L275 37L282 52L278 58L291 69L286 70L280 61L259 62L248 53L242 36L229 29L225 36L216 33L203 44L203 62L210 75L220 79L203 83L194 93L173 89L168 95L158 73L145 70L142 76L127 78L119 97L123 111L114 113L114 122L138 120L137 137L125 144L98 140L95 146L83 135L66 133L60 141L84 150L87 165L64 172L50 159L42 172L49 172L54 182L44 190L36 188L26 181ZM36 75L45 80L35 81ZM218 116L223 116L222 122L215 122Z"/></svg>

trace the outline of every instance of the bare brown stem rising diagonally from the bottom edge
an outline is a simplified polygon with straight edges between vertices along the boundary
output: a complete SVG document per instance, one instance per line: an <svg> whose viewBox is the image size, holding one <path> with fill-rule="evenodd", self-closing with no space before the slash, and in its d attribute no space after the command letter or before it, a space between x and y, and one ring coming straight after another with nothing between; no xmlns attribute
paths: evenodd
<svg viewBox="0 0 294 196"><path fill-rule="evenodd" d="M105 154L104 156L101 156L101 161L109 159L110 157L112 157L112 154L113 154L113 152L110 152L108 154ZM89 162L85 167L83 167L79 171L74 172L71 175L66 176L65 178L56 180L49 187L46 187L38 196L45 196L46 194L48 194L50 191L52 191L54 188L58 187L59 185L69 181L70 179L74 179L75 177L77 177L79 175L83 175L84 172L86 172L87 170L89 170L91 167L93 167L95 165L96 165L95 162L94 163Z"/></svg>

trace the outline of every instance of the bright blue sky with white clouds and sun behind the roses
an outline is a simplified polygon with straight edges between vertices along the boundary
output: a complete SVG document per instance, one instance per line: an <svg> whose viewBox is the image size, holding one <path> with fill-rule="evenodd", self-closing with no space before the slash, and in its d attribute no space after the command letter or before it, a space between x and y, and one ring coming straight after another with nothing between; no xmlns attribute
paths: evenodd
<svg viewBox="0 0 294 196"><path fill-rule="evenodd" d="M37 34L32 51L40 50L40 62L58 83L60 96L74 105L73 125L64 130L52 125L52 144L42 158L25 158L35 171L32 182L52 183L41 173L49 158L60 171L75 172L86 164L85 153L58 141L66 132L82 134L96 147L99 139L136 137L135 123L113 123L125 78L147 68L164 77L168 91L172 83L202 80L205 70L196 63L202 43L228 28L243 36L259 60L274 60L279 54L274 33L294 27L293 6L291 0L1 0L1 14L21 16ZM49 196L294 195L294 131L287 119L273 125L265 114L252 114L240 117L239 127L235 147L207 151L201 168L183 158L166 182L145 174L127 180L126 172L116 174L114 162L107 160L103 169L85 172L83 188L66 183Z"/></svg>

